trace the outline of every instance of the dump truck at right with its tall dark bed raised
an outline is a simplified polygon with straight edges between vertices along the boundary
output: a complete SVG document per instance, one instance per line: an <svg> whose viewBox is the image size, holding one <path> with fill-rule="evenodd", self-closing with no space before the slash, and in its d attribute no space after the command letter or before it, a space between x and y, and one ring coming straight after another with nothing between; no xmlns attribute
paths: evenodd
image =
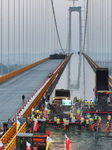
<svg viewBox="0 0 112 150"><path fill-rule="evenodd" d="M95 82L95 96L97 99L96 109L100 111L111 110L108 107L108 99L112 93L109 89L109 76L108 68L97 68L96 69L96 82Z"/></svg>

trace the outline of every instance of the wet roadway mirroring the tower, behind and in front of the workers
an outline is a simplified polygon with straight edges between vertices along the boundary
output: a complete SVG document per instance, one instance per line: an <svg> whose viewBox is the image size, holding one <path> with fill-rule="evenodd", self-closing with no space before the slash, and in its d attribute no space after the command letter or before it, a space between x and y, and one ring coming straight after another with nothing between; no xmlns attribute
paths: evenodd
<svg viewBox="0 0 112 150"><path fill-rule="evenodd" d="M55 89L70 89L71 100L77 96L89 101L94 100L94 86L95 74L92 68L85 58L73 54ZM51 97L53 96L54 92ZM53 140L50 150L66 149L65 134L71 141L70 150L110 150L112 149L112 133L104 132L105 123L102 124L98 140L94 138L94 133L89 130L82 129L81 132L78 132L77 126L75 128L70 127L70 132L66 133L63 131L63 126L61 126L61 130L57 130L53 125L49 125L47 130L50 130L50 137Z"/></svg>

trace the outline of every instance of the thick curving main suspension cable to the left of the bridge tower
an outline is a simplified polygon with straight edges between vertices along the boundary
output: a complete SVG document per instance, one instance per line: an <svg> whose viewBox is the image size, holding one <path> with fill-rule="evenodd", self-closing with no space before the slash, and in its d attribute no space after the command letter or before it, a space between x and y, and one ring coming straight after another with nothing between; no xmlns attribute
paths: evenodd
<svg viewBox="0 0 112 150"><path fill-rule="evenodd" d="M52 5L52 11L53 11L54 22L55 22L55 27L56 27L56 32L57 32L57 36L58 36L59 45L60 45L61 50L65 53L65 51L62 48L62 44L61 44L61 40L60 40L60 36L59 36L59 32L58 32L58 26L57 26L57 21L56 21L56 16L55 16L53 0L51 0L51 5Z"/></svg>

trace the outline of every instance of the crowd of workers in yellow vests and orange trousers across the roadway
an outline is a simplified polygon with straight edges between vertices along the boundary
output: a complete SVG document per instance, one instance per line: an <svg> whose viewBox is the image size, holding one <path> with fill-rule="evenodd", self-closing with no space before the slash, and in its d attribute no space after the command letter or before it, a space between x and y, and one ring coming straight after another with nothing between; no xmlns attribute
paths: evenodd
<svg viewBox="0 0 112 150"><path fill-rule="evenodd" d="M82 103L82 98L74 98L75 103ZM87 107L88 106L88 101L84 100L83 101L83 106ZM90 101L90 107L94 107L94 103L92 100ZM42 105L41 109L36 109L31 113L31 120L34 118L36 119L41 119L45 118L47 124L49 123L50 114L51 114L51 109L47 108L46 115L44 115L44 106ZM81 110L78 107L77 110L73 111L70 110L69 112L69 117L59 117L59 115L54 114L54 127L56 129L61 129L61 124L63 124L63 130L69 131L69 123L75 125L78 125L78 131L81 131L81 128L84 128L86 126L86 129L90 129L91 131L95 131L97 129L101 129L101 116L98 116L97 114L94 114L94 116L91 116L90 113L87 113L86 116L81 116ZM111 132L111 115L108 114L107 116L107 123L106 123L106 132Z"/></svg>

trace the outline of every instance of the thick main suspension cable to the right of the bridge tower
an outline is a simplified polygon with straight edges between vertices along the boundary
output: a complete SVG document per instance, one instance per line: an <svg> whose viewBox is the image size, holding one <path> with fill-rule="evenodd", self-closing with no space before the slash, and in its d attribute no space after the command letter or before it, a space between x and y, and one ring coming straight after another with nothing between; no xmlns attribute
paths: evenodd
<svg viewBox="0 0 112 150"><path fill-rule="evenodd" d="M87 4L86 4L86 19L85 19L85 29L84 29L83 52L85 50L86 33L87 33L87 20L88 20L88 0L87 0Z"/></svg>

